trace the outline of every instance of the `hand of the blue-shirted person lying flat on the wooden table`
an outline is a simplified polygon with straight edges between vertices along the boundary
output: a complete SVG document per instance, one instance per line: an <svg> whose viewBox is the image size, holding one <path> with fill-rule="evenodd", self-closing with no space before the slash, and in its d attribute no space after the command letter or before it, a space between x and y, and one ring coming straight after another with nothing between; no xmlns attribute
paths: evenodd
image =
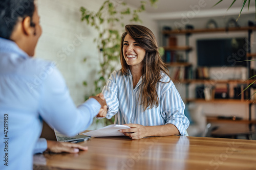
<svg viewBox="0 0 256 170"><path fill-rule="evenodd" d="M70 142L57 142L53 140L47 140L47 150L48 152L54 153L78 153L79 150L87 151L88 147L83 147L80 144L70 143Z"/></svg>

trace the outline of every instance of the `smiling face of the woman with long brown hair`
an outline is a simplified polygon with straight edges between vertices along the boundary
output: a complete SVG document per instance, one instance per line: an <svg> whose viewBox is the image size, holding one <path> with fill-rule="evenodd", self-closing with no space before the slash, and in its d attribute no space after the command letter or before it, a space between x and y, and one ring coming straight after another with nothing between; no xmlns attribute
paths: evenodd
<svg viewBox="0 0 256 170"><path fill-rule="evenodd" d="M129 34L124 37L123 57L128 65L140 66L142 68L142 61L145 54L146 51Z"/></svg>

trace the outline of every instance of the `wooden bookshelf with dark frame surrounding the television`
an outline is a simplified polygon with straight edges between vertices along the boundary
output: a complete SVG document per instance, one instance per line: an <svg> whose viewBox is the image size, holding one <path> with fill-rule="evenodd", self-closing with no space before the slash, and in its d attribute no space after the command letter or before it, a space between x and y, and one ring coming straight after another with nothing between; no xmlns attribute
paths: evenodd
<svg viewBox="0 0 256 170"><path fill-rule="evenodd" d="M252 32L256 30L256 26L254 27L238 27L238 28L216 28L216 29L195 29L195 30L171 30L171 31L162 31L162 35L163 35L163 44L166 44L166 38L170 37L170 36L177 36L177 35L184 35L185 37L185 45L184 46L175 46L175 45L164 45L164 50L168 51L168 52L179 52L179 51L183 51L185 53L185 60L183 60L182 62L180 62L179 60L176 60L175 62L167 62L166 64L170 67L178 67L174 68L174 70L180 70L182 67L185 68L186 71L189 71L190 69L193 69L193 64L189 63L188 61L188 54L193 51L193 48L191 46L189 46L189 36L191 34L209 34L209 33L216 33L216 32L248 32L248 41L250 42L250 36L252 34ZM246 54L246 60L253 60L254 58L256 58L256 53L251 53L251 49L250 47L248 47L247 49L247 54ZM170 68L169 67L169 68ZM255 67L254 67L255 69ZM255 69L256 70L256 69ZM241 86L241 91L240 93L243 91L243 89L245 89L248 85L250 85L251 83L253 83L255 81L254 80L250 80L250 75L253 75L255 73L254 72L251 73L251 68L250 68L250 62L248 62L247 64L247 71L248 71L248 76L247 80L242 80L242 79L237 79L237 80L210 80L208 79L208 77L201 77L198 78L198 76L195 76L195 71L193 70L193 76L192 77L182 77L182 76L177 76L177 72L174 72L173 75L175 75L175 78L179 78L179 82L185 84L185 88L186 88L186 99L185 102L186 103L233 103L233 104L248 104L249 106L249 120L251 120L251 106L253 104L256 103L255 100L248 100L249 97L248 95L242 93L239 98L240 99L229 99L229 97L227 97L227 99L215 99L214 96L215 94L212 93L212 99L210 100L205 100L205 99L191 99L188 96L188 87L190 84L201 84L206 85L206 84L210 84L212 86L215 86L217 84L225 84L227 85L227 88L229 87L233 87L233 85L239 85ZM184 74L184 75L190 75L190 73ZM201 72L201 75L204 75L204 70ZM255 74L254 74L255 75ZM172 76L173 77L173 76ZM173 77L173 78L174 78ZM234 90L234 89L233 89ZM229 89L228 89L229 92ZM237 94L236 94L237 95ZM255 94L254 94L255 95Z"/></svg>

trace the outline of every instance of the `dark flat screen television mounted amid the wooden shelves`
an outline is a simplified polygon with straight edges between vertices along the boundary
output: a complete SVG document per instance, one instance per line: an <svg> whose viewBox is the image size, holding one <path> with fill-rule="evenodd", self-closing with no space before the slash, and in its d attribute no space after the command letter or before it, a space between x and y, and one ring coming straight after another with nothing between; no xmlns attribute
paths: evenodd
<svg viewBox="0 0 256 170"><path fill-rule="evenodd" d="M246 66L245 38L197 40L198 66Z"/></svg>

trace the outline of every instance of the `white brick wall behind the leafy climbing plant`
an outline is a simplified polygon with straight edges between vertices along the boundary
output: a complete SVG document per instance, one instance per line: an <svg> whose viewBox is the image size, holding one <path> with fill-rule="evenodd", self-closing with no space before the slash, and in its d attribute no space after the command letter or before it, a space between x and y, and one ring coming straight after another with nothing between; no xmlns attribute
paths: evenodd
<svg viewBox="0 0 256 170"><path fill-rule="evenodd" d="M94 90L100 55L96 43L93 42L98 36L97 31L85 21L80 21L79 9L83 6L97 12L103 2L104 0L38 1L43 33L37 45L36 56L57 63L76 105L84 101L84 95L90 95ZM158 35L155 21L148 19L146 14L141 14L140 18L143 20L142 25ZM85 57L86 63L83 62ZM84 80L88 82L88 87L82 85Z"/></svg>

